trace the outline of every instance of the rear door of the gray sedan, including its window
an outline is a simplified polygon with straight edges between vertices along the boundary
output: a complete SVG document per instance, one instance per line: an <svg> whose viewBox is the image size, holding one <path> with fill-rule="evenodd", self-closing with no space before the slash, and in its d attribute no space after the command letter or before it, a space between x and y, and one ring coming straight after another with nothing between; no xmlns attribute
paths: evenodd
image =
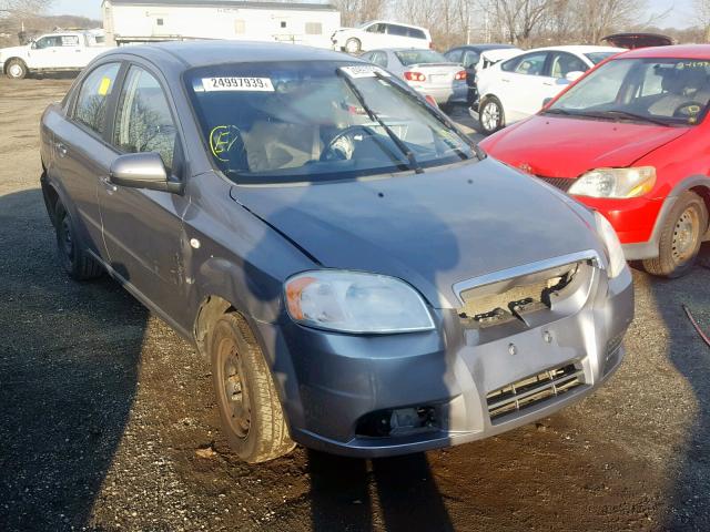
<svg viewBox="0 0 710 532"><path fill-rule="evenodd" d="M53 167L87 247L105 258L97 188L109 175L115 152L103 140L121 62L89 72L77 88L67 120L53 124Z"/></svg>

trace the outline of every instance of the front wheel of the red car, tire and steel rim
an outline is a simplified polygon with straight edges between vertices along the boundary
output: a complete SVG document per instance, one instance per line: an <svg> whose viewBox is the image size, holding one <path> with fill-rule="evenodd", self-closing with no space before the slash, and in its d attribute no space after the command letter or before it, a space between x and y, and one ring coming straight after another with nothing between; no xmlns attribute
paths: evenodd
<svg viewBox="0 0 710 532"><path fill-rule="evenodd" d="M663 221L659 255L643 260L651 275L676 278L686 275L698 258L708 228L708 207L694 192L680 195Z"/></svg>

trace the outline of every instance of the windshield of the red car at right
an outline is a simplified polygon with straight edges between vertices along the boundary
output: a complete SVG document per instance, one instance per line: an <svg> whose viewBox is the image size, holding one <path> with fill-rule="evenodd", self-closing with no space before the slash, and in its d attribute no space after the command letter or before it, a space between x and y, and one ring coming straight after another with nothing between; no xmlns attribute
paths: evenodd
<svg viewBox="0 0 710 532"><path fill-rule="evenodd" d="M545 112L662 125L700 121L710 100L710 61L617 59L571 86Z"/></svg>

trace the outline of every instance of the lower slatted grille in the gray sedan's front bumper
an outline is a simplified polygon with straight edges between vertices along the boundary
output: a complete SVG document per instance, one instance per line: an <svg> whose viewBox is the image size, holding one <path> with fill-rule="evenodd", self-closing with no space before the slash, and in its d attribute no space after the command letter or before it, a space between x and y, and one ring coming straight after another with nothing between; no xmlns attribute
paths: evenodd
<svg viewBox="0 0 710 532"><path fill-rule="evenodd" d="M574 364L510 382L486 396L491 421L558 397L584 385L585 374Z"/></svg>

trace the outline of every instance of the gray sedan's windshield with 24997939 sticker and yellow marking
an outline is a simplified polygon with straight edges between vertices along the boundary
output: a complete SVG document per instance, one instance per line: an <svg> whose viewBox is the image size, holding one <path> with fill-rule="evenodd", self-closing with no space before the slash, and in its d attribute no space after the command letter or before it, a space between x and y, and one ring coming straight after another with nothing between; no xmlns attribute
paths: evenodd
<svg viewBox="0 0 710 532"><path fill-rule="evenodd" d="M239 183L402 172L413 161L420 171L476 156L468 139L373 65L241 63L195 69L185 81L205 145Z"/></svg>

